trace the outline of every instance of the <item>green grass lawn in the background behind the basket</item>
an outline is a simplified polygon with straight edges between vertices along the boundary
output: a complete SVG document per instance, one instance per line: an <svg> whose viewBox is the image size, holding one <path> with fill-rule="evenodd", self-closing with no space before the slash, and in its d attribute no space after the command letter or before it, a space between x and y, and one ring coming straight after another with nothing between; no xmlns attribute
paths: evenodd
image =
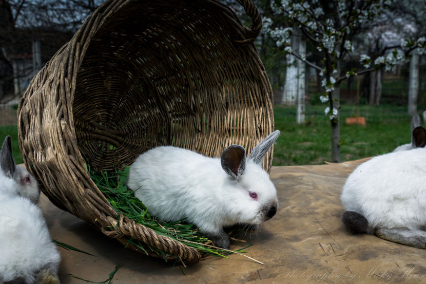
<svg viewBox="0 0 426 284"><path fill-rule="evenodd" d="M324 116L325 107L326 104L306 105L306 123L298 125L296 107L275 106L275 128L281 130L281 135L274 147L273 165L318 165L331 161L331 127ZM342 162L388 153L411 141L411 117L406 115L406 106L362 105L359 115L365 117L366 127L346 125L344 119L356 113L356 106L341 106ZM16 126L0 126L0 139L6 135L12 137L16 163L22 163Z"/></svg>

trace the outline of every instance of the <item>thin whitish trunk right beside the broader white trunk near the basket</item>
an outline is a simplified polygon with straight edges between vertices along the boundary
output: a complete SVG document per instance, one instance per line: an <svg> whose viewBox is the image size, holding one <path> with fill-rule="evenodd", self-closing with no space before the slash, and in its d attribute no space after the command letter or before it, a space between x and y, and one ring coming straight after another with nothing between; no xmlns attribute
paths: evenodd
<svg viewBox="0 0 426 284"><path fill-rule="evenodd" d="M299 55L302 58L306 55L306 42L304 39L299 40ZM306 66L305 63L301 60L297 61L297 70L298 70L298 88L297 88L297 113L296 121L298 124L305 123L305 90L306 90Z"/></svg>

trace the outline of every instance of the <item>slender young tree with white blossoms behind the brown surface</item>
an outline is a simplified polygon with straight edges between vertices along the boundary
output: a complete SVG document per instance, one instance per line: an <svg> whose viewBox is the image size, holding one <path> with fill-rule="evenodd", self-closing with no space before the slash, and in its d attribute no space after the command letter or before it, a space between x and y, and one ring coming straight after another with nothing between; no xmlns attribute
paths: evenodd
<svg viewBox="0 0 426 284"><path fill-rule="evenodd" d="M355 44L351 40L359 28L371 22L392 4L392 0L272 0L273 11L277 15L287 17L288 22L294 23L305 38L314 43L321 52L320 65L307 61L305 56L292 50L293 27L277 26L270 18L263 20L278 46L282 46L288 54L320 71L321 84L325 89L320 100L327 103L324 112L331 123L333 162L340 162L340 83L352 76L383 66L386 70L395 68L407 59L412 50L419 48L419 51L423 52L426 47L424 37L417 40L405 39L399 46L383 49L383 54L377 58L371 58L366 54L358 55L362 68L341 70L341 62L349 56L355 56Z"/></svg>

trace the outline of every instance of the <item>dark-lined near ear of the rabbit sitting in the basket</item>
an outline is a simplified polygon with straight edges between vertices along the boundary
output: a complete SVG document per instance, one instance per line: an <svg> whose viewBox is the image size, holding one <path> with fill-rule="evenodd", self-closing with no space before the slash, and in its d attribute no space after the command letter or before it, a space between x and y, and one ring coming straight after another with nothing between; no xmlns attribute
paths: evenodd
<svg viewBox="0 0 426 284"><path fill-rule="evenodd" d="M220 156L223 170L234 180L239 180L245 168L245 149L240 145L230 145Z"/></svg>

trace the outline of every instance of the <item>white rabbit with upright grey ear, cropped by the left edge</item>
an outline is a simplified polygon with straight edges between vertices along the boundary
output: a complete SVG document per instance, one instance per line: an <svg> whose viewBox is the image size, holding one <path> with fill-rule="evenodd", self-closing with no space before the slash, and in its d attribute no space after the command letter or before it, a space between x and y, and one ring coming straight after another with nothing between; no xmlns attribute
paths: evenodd
<svg viewBox="0 0 426 284"><path fill-rule="evenodd" d="M12 156L10 136L0 151L0 283L59 283L60 254L52 242L36 180Z"/></svg>

